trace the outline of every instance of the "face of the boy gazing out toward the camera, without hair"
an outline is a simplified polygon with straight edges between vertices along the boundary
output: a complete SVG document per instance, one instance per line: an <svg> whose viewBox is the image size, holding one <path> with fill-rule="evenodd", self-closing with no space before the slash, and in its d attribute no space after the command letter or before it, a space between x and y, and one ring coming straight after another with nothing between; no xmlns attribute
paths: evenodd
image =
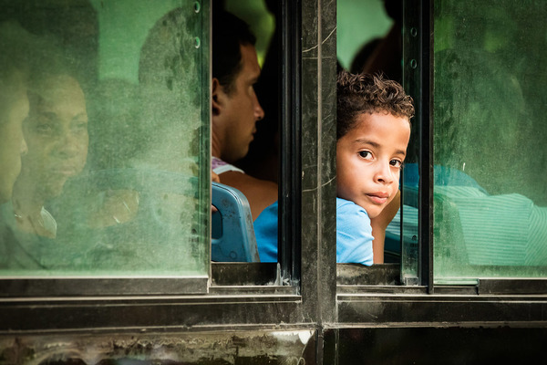
<svg viewBox="0 0 547 365"><path fill-rule="evenodd" d="M410 123L391 114L360 114L336 143L336 195L365 208L370 218L397 195Z"/></svg>

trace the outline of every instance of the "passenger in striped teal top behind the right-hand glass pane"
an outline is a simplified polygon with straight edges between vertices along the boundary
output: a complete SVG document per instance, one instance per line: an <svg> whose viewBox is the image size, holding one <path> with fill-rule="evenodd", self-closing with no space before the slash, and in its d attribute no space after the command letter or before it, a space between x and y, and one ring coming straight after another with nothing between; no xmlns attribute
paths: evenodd
<svg viewBox="0 0 547 365"><path fill-rule="evenodd" d="M495 266L545 266L547 263L547 207L538 206L518 193L492 195L469 175L457 169L435 165L436 199L445 198L455 206L463 235L462 264ZM418 191L418 165L405 166L406 189ZM439 201L439 204L445 204ZM443 209L443 205L436 205ZM418 201L405 200L404 235L418 235ZM436 222L436 224L452 224ZM400 214L387 230L400 235ZM509 228L509 229L508 229ZM450 237L449 237L450 238ZM440 239L440 237L439 237ZM450 245L440 241L436 245Z"/></svg>

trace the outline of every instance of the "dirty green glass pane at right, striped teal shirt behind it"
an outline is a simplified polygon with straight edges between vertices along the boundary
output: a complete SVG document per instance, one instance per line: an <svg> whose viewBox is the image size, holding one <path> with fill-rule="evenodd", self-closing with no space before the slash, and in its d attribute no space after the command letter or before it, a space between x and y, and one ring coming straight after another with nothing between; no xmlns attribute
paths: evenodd
<svg viewBox="0 0 547 365"><path fill-rule="evenodd" d="M434 275L547 276L547 3L435 2Z"/></svg>

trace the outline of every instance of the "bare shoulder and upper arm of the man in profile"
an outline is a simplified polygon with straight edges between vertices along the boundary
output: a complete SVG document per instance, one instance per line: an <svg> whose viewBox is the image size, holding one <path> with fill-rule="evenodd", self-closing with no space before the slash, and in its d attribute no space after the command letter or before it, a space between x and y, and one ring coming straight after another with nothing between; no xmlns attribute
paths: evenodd
<svg viewBox="0 0 547 365"><path fill-rule="evenodd" d="M277 200L277 184L253 178L242 172L222 172L219 174L221 183L232 186L245 195L251 206L253 220Z"/></svg>

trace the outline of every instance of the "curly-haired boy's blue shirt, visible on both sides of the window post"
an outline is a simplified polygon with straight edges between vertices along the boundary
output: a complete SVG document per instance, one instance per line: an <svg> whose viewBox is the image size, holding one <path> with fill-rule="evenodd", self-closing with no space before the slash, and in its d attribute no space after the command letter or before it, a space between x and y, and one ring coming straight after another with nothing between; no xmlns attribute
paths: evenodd
<svg viewBox="0 0 547 365"><path fill-rule="evenodd" d="M261 262L277 262L277 212L275 202L254 221L254 234ZM356 203L336 198L336 262L370 266L372 228L365 209Z"/></svg>

